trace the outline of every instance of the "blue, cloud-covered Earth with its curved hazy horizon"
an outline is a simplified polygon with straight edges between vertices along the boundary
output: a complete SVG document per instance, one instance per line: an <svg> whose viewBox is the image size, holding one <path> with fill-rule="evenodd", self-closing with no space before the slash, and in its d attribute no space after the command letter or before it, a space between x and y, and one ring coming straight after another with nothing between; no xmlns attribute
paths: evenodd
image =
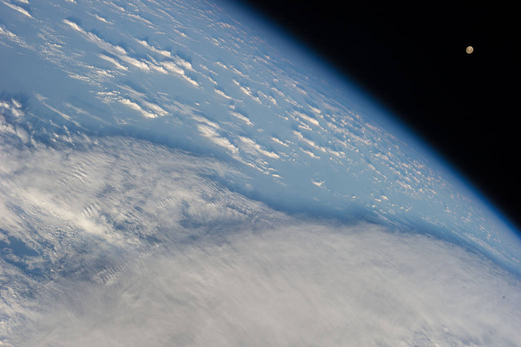
<svg viewBox="0 0 521 347"><path fill-rule="evenodd" d="M232 3L2 0L0 344L515 346L521 238Z"/></svg>

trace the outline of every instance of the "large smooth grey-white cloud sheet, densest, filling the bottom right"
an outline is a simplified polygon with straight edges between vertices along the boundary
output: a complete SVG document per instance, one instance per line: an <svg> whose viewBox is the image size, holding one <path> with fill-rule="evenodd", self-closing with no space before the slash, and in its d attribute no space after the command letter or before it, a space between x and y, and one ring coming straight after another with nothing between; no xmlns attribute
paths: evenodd
<svg viewBox="0 0 521 347"><path fill-rule="evenodd" d="M515 345L521 286L479 257L378 226L301 224L145 258L114 284L65 283L43 345Z"/></svg>

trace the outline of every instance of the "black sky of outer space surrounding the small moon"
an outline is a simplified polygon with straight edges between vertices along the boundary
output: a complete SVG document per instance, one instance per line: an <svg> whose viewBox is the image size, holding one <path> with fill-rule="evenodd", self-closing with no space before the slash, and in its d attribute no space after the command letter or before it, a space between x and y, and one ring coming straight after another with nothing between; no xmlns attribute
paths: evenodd
<svg viewBox="0 0 521 347"><path fill-rule="evenodd" d="M521 226L513 8L439 1L242 3L322 52ZM467 45L474 53L465 52Z"/></svg>

